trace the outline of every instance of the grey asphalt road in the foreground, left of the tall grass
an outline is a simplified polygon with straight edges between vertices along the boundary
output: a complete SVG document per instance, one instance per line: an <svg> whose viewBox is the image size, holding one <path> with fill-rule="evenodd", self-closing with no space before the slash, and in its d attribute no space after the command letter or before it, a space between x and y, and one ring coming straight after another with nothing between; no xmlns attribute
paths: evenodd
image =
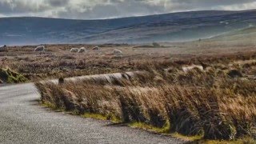
<svg viewBox="0 0 256 144"><path fill-rule="evenodd" d="M38 106L33 83L0 87L0 143L182 143L181 140Z"/></svg>

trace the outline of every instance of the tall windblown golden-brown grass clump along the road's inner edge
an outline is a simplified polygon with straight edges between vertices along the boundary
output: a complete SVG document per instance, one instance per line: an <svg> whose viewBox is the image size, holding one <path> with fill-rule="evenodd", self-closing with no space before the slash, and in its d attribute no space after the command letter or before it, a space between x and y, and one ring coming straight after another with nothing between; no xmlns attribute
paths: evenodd
<svg viewBox="0 0 256 144"><path fill-rule="evenodd" d="M36 86L42 102L79 114L169 126L169 132L207 139L255 138L256 81L246 77L255 70L254 62L232 62L204 61L204 71L187 73L161 63L143 67L146 72L134 78L112 78L111 83L90 79ZM246 70L241 68L245 65Z"/></svg>

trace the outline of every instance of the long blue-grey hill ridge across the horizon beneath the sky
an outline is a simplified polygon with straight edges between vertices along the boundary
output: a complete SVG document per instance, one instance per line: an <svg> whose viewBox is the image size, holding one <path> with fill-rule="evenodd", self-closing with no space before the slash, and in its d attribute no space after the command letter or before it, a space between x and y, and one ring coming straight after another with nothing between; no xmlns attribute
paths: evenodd
<svg viewBox="0 0 256 144"><path fill-rule="evenodd" d="M192 41L256 26L255 12L208 10L101 20L0 18L0 45Z"/></svg>

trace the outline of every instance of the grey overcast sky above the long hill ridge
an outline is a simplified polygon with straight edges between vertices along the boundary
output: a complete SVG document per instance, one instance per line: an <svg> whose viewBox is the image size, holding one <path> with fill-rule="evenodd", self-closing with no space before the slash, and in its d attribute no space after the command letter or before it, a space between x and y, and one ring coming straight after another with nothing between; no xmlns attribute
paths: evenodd
<svg viewBox="0 0 256 144"><path fill-rule="evenodd" d="M0 0L0 17L120 18L188 10L256 9L255 0Z"/></svg>

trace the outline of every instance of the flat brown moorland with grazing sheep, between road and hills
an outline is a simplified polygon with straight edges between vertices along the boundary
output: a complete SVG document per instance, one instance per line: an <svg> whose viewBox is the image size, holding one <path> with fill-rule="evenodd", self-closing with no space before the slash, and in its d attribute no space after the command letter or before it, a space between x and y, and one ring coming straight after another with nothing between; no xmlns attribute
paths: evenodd
<svg viewBox="0 0 256 144"><path fill-rule="evenodd" d="M212 43L198 45L197 42L189 42L163 45L164 48L102 45L100 51L92 50L94 46L90 45L49 45L46 46L46 53L34 52L35 46L10 46L6 51L0 52L0 68L10 68L23 74L30 81L34 81L38 78L49 79L61 76L72 77L143 70L156 63L159 67L200 64L198 60L204 61L205 58L209 63L218 62L218 58L222 58L222 62L225 62L224 56L230 58L241 56L248 59L256 52L251 46L243 46L238 49L238 46L218 46ZM70 48L82 46L89 49L87 53L70 53ZM122 50L124 56L115 58L112 54L114 49ZM243 53L241 53L242 51ZM230 54L230 52L232 53ZM228 59L226 61L230 62ZM246 65L244 68L246 69ZM253 73L254 71L250 72L250 74Z"/></svg>

